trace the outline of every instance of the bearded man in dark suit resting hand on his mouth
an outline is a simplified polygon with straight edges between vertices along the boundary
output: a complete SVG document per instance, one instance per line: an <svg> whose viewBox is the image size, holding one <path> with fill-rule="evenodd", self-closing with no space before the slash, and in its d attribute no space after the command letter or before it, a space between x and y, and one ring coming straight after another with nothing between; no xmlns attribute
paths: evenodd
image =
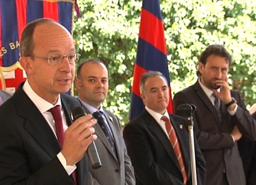
<svg viewBox="0 0 256 185"><path fill-rule="evenodd" d="M228 84L231 55L222 45L210 45L198 62L198 81L174 95L177 106L196 105L193 113L198 144L206 160L206 185L245 185L237 141L256 139L256 121L239 92Z"/></svg>

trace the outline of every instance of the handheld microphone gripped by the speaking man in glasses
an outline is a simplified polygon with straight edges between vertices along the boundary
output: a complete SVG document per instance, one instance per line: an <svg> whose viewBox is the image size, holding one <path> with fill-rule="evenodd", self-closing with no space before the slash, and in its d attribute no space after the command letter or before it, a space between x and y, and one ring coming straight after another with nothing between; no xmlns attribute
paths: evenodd
<svg viewBox="0 0 256 185"><path fill-rule="evenodd" d="M79 117L86 115L86 113L82 106L76 106L72 110L72 115L73 115L73 119L75 121ZM87 153L91 160L92 168L93 169L101 168L102 167L101 159L100 159L100 156L99 156L99 153L98 153L98 150L97 150L97 147L96 147L94 141L89 145L89 147L87 149Z"/></svg>

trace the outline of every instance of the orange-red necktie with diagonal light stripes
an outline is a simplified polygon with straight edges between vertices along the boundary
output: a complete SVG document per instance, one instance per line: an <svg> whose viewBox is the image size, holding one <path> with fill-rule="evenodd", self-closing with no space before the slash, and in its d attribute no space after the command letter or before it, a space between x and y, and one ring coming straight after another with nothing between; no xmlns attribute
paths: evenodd
<svg viewBox="0 0 256 185"><path fill-rule="evenodd" d="M187 180L188 180L188 176L187 176L187 172L186 172L186 169L184 166L184 162L183 162L183 158L182 158L182 154L181 154L181 150L180 150L180 145L179 145L179 141L176 136L175 130L174 130L168 117L162 116L161 120L163 120L165 122L165 127L166 127L166 131L168 133L168 136L169 136L169 140L171 142L171 145L174 149L174 152L177 156L177 159L178 159L178 162L180 165L181 173L183 176L183 183L186 184Z"/></svg>

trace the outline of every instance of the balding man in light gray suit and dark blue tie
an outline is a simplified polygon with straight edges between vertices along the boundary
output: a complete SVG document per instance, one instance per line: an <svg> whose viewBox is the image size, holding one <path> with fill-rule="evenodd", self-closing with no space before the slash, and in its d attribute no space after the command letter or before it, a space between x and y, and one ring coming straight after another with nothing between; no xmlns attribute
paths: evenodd
<svg viewBox="0 0 256 185"><path fill-rule="evenodd" d="M89 164L90 185L135 185L135 177L118 117L103 107L109 89L108 70L103 62L89 59L80 64L75 80L78 97L86 113L98 119L95 141L102 167Z"/></svg>

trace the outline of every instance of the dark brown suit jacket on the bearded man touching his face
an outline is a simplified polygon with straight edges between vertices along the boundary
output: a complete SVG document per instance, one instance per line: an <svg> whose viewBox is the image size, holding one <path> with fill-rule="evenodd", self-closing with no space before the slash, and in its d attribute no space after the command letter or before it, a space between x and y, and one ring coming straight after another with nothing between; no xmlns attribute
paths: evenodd
<svg viewBox="0 0 256 185"><path fill-rule="evenodd" d="M245 139L256 138L256 122L246 110L244 101L237 91L231 91L237 100L238 109L231 116L227 107L221 102L222 121L217 110L205 94L199 83L174 95L174 109L182 103L192 103L197 109L193 114L195 135L206 161L206 185L221 185L223 171L230 185L245 185L245 174L237 142L234 143L230 133L235 125Z"/></svg>

